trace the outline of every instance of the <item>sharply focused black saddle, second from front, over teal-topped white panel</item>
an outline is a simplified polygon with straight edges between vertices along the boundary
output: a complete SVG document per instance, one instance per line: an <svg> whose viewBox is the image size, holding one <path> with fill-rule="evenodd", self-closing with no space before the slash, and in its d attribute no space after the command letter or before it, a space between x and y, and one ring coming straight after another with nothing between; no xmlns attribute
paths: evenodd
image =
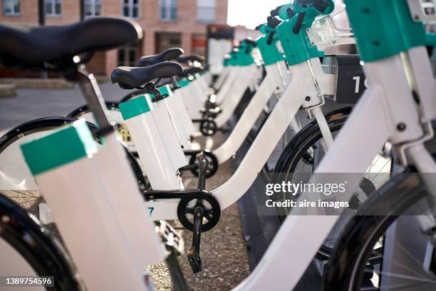
<svg viewBox="0 0 436 291"><path fill-rule="evenodd" d="M121 88L141 88L141 86L156 78L170 78L182 73L178 63L165 61L146 67L118 67L113 70L110 80L118 83Z"/></svg>

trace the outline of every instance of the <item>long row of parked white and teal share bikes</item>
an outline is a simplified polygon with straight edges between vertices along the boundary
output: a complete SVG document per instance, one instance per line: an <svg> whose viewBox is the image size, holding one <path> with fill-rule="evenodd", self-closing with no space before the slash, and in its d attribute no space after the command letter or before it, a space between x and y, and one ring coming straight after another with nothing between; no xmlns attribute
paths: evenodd
<svg viewBox="0 0 436 291"><path fill-rule="evenodd" d="M181 48L115 68L111 81L130 90L120 102L104 101L85 64L95 51L142 39L135 21L1 25L2 65L61 72L87 101L0 138L0 190L9 193L0 195L1 275L54 276L56 290L154 290L147 266L166 260L174 289L187 290L177 262L184 242L165 220L192 231L187 259L200 272L202 233L258 173L274 173L275 183L304 173L321 184L353 173L341 196L352 215L277 208L281 228L236 289L292 290L315 259L325 290L434 290L436 36L426 26L436 2L433 12L431 1L344 2L277 7L258 39L229 52L219 76ZM351 28L335 21L345 13ZM324 53L349 44L358 55ZM195 140L217 131L227 138L214 150ZM244 141L232 177L206 190ZM197 188L184 188L186 171ZM21 207L35 201L38 219Z"/></svg>

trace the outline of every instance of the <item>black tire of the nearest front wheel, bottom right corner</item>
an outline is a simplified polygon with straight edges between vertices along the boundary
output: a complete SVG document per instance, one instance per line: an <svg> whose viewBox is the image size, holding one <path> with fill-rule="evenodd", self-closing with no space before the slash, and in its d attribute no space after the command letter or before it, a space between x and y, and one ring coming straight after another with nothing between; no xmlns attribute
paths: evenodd
<svg viewBox="0 0 436 291"><path fill-rule="evenodd" d="M360 290L364 280L366 283L369 280L368 272L364 277L367 263L375 263L371 261L375 242L401 213L426 197L427 191L419 176L405 173L391 178L371 195L343 230L326 266L323 290ZM383 263L383 259L378 260L377 263Z"/></svg>

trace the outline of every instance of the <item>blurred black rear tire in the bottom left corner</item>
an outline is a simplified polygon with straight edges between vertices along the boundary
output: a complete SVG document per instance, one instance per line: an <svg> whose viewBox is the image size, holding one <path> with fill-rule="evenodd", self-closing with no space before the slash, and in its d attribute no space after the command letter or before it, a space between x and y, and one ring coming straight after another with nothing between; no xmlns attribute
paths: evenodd
<svg viewBox="0 0 436 291"><path fill-rule="evenodd" d="M0 238L19 252L38 276L55 277L55 286L47 290L83 290L60 242L18 204L1 194L0 218Z"/></svg>

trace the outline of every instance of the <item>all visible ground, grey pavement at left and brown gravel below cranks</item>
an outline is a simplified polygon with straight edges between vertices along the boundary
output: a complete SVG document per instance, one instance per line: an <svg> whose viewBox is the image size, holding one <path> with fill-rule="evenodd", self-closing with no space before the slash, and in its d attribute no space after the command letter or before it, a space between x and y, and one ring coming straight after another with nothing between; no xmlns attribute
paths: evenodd
<svg viewBox="0 0 436 291"><path fill-rule="evenodd" d="M128 92L108 83L100 87L105 99L110 101L118 101ZM64 116L83 103L84 99L78 88L50 90L21 88L18 90L17 97L0 99L0 136L10 128L34 118ZM212 147L215 148L222 143L223 138L222 135L215 137ZM231 175L231 163L221 165L218 173L207 180L207 189L217 188ZM197 179L185 175L184 183L187 188L196 188ZM25 202L23 206L36 213L38 193L7 194ZM57 234L56 228L51 227L51 230ZM239 209L236 204L222 212L217 227L202 235L203 271L198 274L192 273L186 258L192 233L187 230L181 232L185 240L185 255L180 257L179 261L191 290L231 290L249 275L246 246L242 238ZM169 273L164 263L153 265L150 272L157 290L172 290Z"/></svg>

